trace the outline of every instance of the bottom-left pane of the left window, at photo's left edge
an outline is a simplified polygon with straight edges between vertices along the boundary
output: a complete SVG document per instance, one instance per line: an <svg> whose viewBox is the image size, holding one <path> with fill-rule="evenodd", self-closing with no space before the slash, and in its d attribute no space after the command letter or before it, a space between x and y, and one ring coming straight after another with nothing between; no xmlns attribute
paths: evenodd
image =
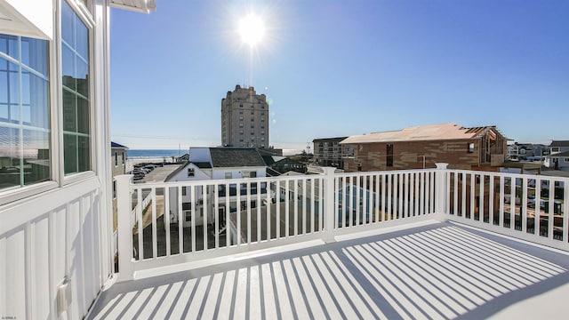
<svg viewBox="0 0 569 320"><path fill-rule="evenodd" d="M0 188L20 186L20 129L0 126Z"/></svg>

